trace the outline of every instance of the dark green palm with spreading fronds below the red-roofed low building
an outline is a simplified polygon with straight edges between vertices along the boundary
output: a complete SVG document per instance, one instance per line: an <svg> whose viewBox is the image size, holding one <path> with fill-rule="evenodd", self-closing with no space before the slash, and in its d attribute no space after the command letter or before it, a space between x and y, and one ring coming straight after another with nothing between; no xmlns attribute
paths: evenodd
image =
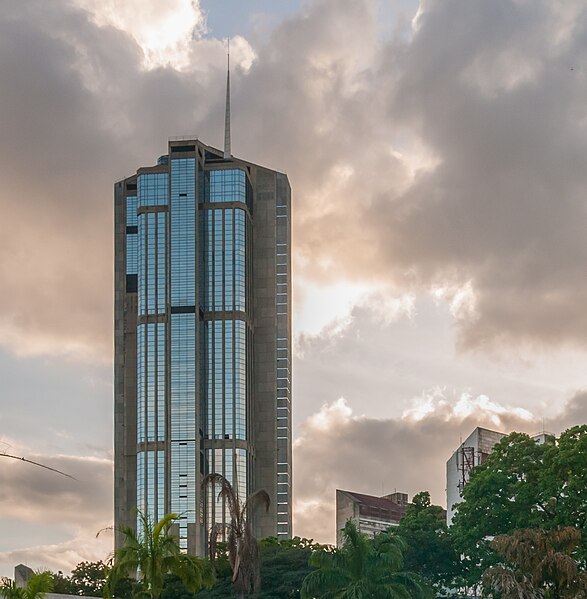
<svg viewBox="0 0 587 599"><path fill-rule="evenodd" d="M373 539L352 520L342 532L340 549L312 554L316 568L304 579L302 599L425 599L431 591L415 574L403 572L403 539L382 532Z"/></svg>

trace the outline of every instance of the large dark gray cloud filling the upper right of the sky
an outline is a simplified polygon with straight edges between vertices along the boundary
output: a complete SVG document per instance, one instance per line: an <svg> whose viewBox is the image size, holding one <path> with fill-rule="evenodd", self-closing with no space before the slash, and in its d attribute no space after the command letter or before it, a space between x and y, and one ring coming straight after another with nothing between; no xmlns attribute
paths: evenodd
<svg viewBox="0 0 587 599"><path fill-rule="evenodd" d="M472 282L465 347L587 338L585 7L565 4L425 2L394 62L389 116L439 164L366 218L406 281Z"/></svg>

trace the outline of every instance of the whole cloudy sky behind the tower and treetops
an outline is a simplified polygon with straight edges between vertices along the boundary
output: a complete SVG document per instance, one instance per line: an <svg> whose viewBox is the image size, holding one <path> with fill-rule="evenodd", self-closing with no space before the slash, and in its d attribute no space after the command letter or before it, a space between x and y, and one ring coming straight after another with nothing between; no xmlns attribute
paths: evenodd
<svg viewBox="0 0 587 599"><path fill-rule="evenodd" d="M0 13L0 575L112 548L113 182L223 139L293 189L294 532L445 503L476 426L587 421L580 0L21 0Z"/></svg>

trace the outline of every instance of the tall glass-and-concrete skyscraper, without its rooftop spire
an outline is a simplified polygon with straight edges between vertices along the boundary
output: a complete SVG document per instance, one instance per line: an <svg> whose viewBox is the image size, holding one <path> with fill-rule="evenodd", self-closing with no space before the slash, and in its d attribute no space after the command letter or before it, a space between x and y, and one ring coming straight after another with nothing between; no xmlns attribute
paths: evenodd
<svg viewBox="0 0 587 599"><path fill-rule="evenodd" d="M265 489L259 537L292 530L287 176L197 139L115 184L115 524L179 514L203 555L226 506Z"/></svg>

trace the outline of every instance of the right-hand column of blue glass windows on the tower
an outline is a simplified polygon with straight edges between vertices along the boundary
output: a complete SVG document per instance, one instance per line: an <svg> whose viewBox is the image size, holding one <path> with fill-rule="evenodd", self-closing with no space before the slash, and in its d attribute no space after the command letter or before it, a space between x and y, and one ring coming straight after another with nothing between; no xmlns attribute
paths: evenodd
<svg viewBox="0 0 587 599"><path fill-rule="evenodd" d="M205 368L202 396L206 467L222 474L246 498L247 431L247 204L250 184L240 169L203 171L200 176L200 306ZM232 204L229 204L232 203ZM242 204L243 207L234 204ZM222 500L208 494L207 523L228 522Z"/></svg>

